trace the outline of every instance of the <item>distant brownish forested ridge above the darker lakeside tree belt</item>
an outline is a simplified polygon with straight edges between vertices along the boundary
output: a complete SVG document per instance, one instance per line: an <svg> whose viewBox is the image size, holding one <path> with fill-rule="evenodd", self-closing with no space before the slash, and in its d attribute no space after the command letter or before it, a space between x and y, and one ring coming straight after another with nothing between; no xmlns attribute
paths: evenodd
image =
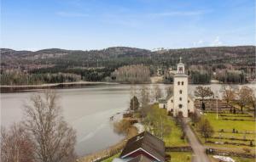
<svg viewBox="0 0 256 162"><path fill-rule="evenodd" d="M255 46L196 47L150 51L134 47L108 47L102 50L65 50L50 48L32 51L15 51L1 48L1 68L23 70L45 67L105 67L117 68L127 64L173 66L179 57L183 62L201 65L254 65Z"/></svg>

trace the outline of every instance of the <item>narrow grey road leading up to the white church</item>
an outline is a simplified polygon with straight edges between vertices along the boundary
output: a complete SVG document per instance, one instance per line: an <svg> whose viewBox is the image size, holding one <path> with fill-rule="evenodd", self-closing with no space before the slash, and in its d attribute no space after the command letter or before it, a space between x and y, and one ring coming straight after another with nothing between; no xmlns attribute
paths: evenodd
<svg viewBox="0 0 256 162"><path fill-rule="evenodd" d="M189 127L188 122L188 119L183 118L184 131L189 138L190 146L194 151L192 162L211 162L211 160L205 153L205 148L201 145L201 142L199 142L198 139L195 137L195 133Z"/></svg>

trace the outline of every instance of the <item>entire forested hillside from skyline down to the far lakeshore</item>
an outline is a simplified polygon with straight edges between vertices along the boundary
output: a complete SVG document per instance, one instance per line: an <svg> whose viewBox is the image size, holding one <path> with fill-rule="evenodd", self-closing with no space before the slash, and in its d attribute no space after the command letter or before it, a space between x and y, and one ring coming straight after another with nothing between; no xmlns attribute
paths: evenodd
<svg viewBox="0 0 256 162"><path fill-rule="evenodd" d="M158 75L157 69L160 68L165 82L172 82L172 75L168 71L169 68L176 68L179 57L183 58L187 70L191 71L190 79L194 83L208 83L211 78L226 83L243 83L256 77L254 46L158 51L134 47L90 51L50 48L35 52L2 48L1 81L6 85L109 81L115 78L114 70L125 65L143 64L148 66L150 76Z"/></svg>

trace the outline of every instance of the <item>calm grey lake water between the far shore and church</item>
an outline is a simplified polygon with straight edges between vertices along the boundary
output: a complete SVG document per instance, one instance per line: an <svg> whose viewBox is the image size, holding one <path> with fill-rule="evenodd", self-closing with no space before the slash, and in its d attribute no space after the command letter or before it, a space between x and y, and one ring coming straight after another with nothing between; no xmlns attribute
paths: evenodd
<svg viewBox="0 0 256 162"><path fill-rule="evenodd" d="M149 85L150 86L150 85ZM163 89L170 85L160 85ZM193 94L198 85L189 85ZM248 84L255 87L255 84ZM135 86L137 89L141 85ZM152 87L152 85L151 85ZM221 85L208 85L213 92L219 92ZM107 148L123 137L113 132L109 118L117 118L129 107L130 85L90 86L79 89L60 89L61 107L65 120L77 131L77 154L80 156ZM10 126L22 120L22 109L34 92L1 94L1 125Z"/></svg>

